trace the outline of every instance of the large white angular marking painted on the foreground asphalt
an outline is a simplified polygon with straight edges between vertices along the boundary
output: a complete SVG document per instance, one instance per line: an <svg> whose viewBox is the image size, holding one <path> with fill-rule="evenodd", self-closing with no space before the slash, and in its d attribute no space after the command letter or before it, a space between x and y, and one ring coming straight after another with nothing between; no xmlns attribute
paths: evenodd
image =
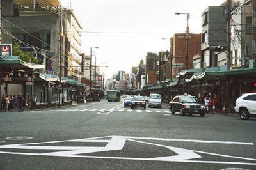
<svg viewBox="0 0 256 170"><path fill-rule="evenodd" d="M111 137L111 139L106 139ZM187 150L183 148L176 148L172 146L166 146L163 144L148 143L145 141L138 141L138 139L143 140L158 140L158 141L177 141L181 139L163 139L163 138L152 138L152 137L124 137L124 136L106 136L106 137L94 137L87 139L75 139L67 141L52 141L46 143L25 143L25 144L8 144L0 145L0 148L12 148L12 149L27 149L27 150L66 150L66 151L54 151L49 153L19 153L19 152L7 152L0 151L0 153L13 154L13 155L44 155L44 156L56 156L56 157L79 157L79 158L107 158L107 159L119 159L119 160L148 160L148 161L166 161L166 162L191 162L191 163L207 163L207 164L239 164L239 165L253 165L256 166L256 159L254 158L244 158L244 157L234 157L230 155L221 155L216 153L207 153L204 151ZM183 139L186 140L186 139ZM88 155L77 155L86 153L95 153L102 151L113 151L122 150L124 148L125 141L133 141L136 143L143 143L152 146L160 146L168 150L172 150L177 155L167 156L167 157L155 157L155 158L127 158L127 157L100 157L100 156L88 156ZM199 140L188 140L188 141L199 141ZM63 142L81 142L81 143L108 143L104 147L87 147L87 146L35 146L36 144L50 144L50 143L63 143ZM216 141L221 142L221 141ZM228 142L223 141L223 144ZM234 142L231 142L234 144ZM241 143L241 142L239 142ZM248 144L248 143L247 143ZM33 146L31 146L33 145ZM207 155L214 155L218 157L227 158L237 158L241 160L251 160L252 162L221 162L221 161L204 161L204 160L193 160L196 158L202 158L198 153L203 153Z"/></svg>

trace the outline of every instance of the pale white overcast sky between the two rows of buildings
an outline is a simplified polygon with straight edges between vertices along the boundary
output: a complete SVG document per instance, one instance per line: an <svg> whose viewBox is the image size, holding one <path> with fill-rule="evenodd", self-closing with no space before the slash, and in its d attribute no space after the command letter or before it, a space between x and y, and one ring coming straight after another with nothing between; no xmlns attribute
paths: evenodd
<svg viewBox="0 0 256 170"><path fill-rule="evenodd" d="M70 6L70 0L61 0ZM118 70L131 73L132 66L145 62L147 52L169 50L174 33L184 33L186 15L190 13L191 33L200 33L201 14L207 6L220 6L224 0L72 0L71 8L82 31L82 52L95 50L97 65L109 78ZM93 57L94 63L94 57ZM106 63L106 64L103 64Z"/></svg>

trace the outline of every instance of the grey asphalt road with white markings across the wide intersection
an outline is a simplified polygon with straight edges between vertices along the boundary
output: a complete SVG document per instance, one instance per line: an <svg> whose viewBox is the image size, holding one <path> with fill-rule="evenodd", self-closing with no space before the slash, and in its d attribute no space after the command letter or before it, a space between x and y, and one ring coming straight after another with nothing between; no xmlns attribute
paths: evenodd
<svg viewBox="0 0 256 170"><path fill-rule="evenodd" d="M255 125L106 100L0 112L0 169L256 169Z"/></svg>

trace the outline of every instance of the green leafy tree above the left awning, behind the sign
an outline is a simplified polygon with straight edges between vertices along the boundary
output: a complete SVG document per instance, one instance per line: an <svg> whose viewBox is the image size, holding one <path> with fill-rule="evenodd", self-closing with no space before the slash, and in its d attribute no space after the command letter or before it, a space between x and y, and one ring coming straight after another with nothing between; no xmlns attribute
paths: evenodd
<svg viewBox="0 0 256 170"><path fill-rule="evenodd" d="M40 59L37 59L34 57L30 52L24 52L20 50L19 43L15 43L12 47L12 54L13 56L19 56L22 61L25 61L27 63L40 63Z"/></svg>

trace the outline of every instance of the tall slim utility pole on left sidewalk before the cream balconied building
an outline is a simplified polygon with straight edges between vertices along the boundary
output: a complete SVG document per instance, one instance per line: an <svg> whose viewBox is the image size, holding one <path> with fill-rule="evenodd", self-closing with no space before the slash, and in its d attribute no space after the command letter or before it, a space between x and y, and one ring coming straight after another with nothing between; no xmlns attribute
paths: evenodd
<svg viewBox="0 0 256 170"><path fill-rule="evenodd" d="M62 58L62 36L64 35L63 34L63 25L62 25L62 9L61 9L61 6L60 6L60 10L59 10L59 19L60 19L60 73L59 73L59 77L60 77L60 84L61 84L61 70L62 70L62 62L61 62L61 58ZM62 85L62 84L61 84ZM61 102L62 100L62 86L61 86L61 89L59 89L59 102ZM61 104L61 103L60 103Z"/></svg>

